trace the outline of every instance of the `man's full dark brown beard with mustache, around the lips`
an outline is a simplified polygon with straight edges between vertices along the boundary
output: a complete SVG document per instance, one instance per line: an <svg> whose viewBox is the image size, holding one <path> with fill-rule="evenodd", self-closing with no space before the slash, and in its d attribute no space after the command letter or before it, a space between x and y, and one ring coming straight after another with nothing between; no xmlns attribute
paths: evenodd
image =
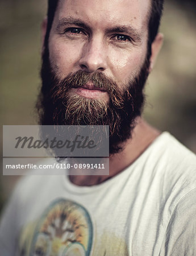
<svg viewBox="0 0 196 256"><path fill-rule="evenodd" d="M65 79L59 79L51 68L48 47L43 53L41 67L42 86L37 100L41 125L109 125L109 153L123 150L123 144L131 138L136 117L141 115L144 105L143 88L149 73L149 58L146 58L139 75L126 88L119 86L102 72L77 71ZM109 102L95 100L72 93L71 88L82 87L93 82L97 88L109 93Z"/></svg>

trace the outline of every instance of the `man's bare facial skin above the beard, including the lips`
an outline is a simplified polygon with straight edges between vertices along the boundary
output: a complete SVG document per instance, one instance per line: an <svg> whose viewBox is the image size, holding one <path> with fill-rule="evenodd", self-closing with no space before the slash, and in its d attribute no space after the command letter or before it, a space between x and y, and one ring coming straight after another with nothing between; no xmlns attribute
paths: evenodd
<svg viewBox="0 0 196 256"><path fill-rule="evenodd" d="M149 0L60 0L49 37L52 68L60 79L100 71L123 90L144 64L149 8ZM106 92L74 93L108 100Z"/></svg>

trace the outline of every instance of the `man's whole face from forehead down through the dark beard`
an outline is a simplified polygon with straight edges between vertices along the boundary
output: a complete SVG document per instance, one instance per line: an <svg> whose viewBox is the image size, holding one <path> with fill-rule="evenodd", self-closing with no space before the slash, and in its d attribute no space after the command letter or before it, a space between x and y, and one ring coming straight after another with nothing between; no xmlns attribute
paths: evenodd
<svg viewBox="0 0 196 256"><path fill-rule="evenodd" d="M149 5L60 0L43 53L43 125L109 125L110 153L122 149L143 106Z"/></svg>

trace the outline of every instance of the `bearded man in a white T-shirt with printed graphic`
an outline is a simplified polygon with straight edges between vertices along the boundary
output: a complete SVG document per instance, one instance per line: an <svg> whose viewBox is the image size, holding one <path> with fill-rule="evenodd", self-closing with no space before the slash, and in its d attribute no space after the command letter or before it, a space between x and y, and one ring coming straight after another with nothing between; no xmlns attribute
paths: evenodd
<svg viewBox="0 0 196 256"><path fill-rule="evenodd" d="M22 179L2 255L194 255L195 155L141 118L162 5L48 0L40 123L109 125L110 172Z"/></svg>

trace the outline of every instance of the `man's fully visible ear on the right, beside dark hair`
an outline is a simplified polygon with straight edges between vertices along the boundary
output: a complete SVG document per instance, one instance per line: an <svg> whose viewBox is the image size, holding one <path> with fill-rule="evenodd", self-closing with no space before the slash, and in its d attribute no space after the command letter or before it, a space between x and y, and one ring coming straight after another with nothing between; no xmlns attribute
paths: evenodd
<svg viewBox="0 0 196 256"><path fill-rule="evenodd" d="M156 35L156 38L155 40L153 41L152 43L152 46L151 46L151 58L150 58L150 61L151 61L151 65L150 65L150 72L152 71L154 65L155 65L155 62L156 62L156 58L159 54L159 51L162 47L162 43L163 43L163 40L164 40L164 35L161 34L161 33L158 33Z"/></svg>

